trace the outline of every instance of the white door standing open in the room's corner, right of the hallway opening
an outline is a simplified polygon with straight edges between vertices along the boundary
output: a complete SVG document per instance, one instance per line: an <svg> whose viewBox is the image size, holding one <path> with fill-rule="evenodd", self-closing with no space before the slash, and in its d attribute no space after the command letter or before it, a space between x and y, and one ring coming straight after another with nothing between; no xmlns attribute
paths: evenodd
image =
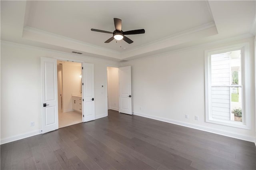
<svg viewBox="0 0 256 170"><path fill-rule="evenodd" d="M119 67L119 112L132 115L131 66Z"/></svg>

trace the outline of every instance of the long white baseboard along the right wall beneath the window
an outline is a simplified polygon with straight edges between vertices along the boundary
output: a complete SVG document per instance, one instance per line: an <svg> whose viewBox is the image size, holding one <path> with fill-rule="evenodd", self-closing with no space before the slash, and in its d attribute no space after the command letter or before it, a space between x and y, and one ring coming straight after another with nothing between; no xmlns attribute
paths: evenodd
<svg viewBox="0 0 256 170"><path fill-rule="evenodd" d="M246 140L246 141L249 141L249 142L255 142L255 137L253 137L253 136L246 136L244 134L234 133L234 132L230 132L230 131L226 131L226 130L220 130L220 129L217 129L217 128L194 125L194 124L191 124L191 123L185 123L185 122L181 122L181 121L174 121L172 119L166 119L166 118L163 118L163 117L146 115L146 114L143 114L143 113L134 113L133 115L146 117L146 118L150 118L150 119L155 119L155 120L158 120L158 121L163 121L163 122L172 123L172 124L176 124L176 125L181 125L181 126L184 126L184 127L203 130L203 131L206 131L206 132L220 134L220 135L228 136L228 137L232 137L232 138L242 139L242 140Z"/></svg>

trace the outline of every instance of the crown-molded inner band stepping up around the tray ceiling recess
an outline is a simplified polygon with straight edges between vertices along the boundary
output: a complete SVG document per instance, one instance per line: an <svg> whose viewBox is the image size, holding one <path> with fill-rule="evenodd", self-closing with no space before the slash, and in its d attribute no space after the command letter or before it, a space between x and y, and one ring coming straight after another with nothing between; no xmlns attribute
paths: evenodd
<svg viewBox="0 0 256 170"><path fill-rule="evenodd" d="M29 26L26 26L23 29L22 37L32 41L52 43L52 45L74 49L80 52L104 55L106 57L112 57L122 60L127 57L134 56L134 53L141 54L164 49L166 47L171 47L173 45L184 43L186 41L189 41L190 39L194 39L195 37L206 37L214 34L216 34L216 26L214 22L210 22L122 52L99 47L90 43L81 42L72 38L67 38Z"/></svg>

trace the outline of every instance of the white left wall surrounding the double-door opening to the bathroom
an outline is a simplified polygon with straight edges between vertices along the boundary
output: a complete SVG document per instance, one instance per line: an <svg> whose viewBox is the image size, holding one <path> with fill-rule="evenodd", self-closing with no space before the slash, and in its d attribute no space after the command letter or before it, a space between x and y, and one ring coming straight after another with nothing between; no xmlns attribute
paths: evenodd
<svg viewBox="0 0 256 170"><path fill-rule="evenodd" d="M1 41L1 143L42 128L40 57L94 63L96 118L107 116L106 66L116 62Z"/></svg>

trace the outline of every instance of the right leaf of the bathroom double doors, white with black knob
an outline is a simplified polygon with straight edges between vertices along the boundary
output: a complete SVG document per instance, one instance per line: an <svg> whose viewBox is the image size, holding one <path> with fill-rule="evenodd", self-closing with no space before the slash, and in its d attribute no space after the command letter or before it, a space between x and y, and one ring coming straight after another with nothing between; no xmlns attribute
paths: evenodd
<svg viewBox="0 0 256 170"><path fill-rule="evenodd" d="M95 120L94 64L83 63L84 122Z"/></svg>

